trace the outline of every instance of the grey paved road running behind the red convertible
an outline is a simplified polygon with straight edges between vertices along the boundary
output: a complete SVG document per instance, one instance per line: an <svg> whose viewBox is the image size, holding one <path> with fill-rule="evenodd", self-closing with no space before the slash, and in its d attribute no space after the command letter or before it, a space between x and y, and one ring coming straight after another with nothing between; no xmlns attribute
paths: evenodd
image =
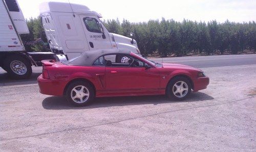
<svg viewBox="0 0 256 152"><path fill-rule="evenodd" d="M256 54L148 59L153 60L155 62L167 62L190 65L197 68L256 64ZM41 71L41 67L33 67L33 73L30 79L13 81L8 78L6 71L0 68L0 86L36 83L36 78L38 77L38 75L41 74Z"/></svg>

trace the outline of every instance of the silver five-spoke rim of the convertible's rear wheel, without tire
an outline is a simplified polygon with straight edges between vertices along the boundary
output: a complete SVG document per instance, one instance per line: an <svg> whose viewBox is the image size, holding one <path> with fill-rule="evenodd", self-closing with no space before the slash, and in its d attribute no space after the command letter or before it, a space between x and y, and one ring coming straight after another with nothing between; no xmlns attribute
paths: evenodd
<svg viewBox="0 0 256 152"><path fill-rule="evenodd" d="M81 104L88 100L90 92L87 87L76 86L71 90L71 98L75 103Z"/></svg>

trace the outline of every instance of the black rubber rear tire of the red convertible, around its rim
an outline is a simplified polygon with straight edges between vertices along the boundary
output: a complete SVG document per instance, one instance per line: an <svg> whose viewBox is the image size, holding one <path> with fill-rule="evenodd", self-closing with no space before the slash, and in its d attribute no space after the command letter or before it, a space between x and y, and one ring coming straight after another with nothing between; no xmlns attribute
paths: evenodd
<svg viewBox="0 0 256 152"><path fill-rule="evenodd" d="M85 87L86 89L83 89L83 93L88 93L89 91L89 97L88 99L86 100L87 96L84 96L82 97L83 100L86 100L84 102L81 102L79 103L78 101L81 101L79 98L75 98L74 100L72 99L72 96L76 96L76 92L72 91L73 89L78 89L77 91L80 91L80 87L79 86L83 86ZM88 91L87 91L88 90ZM72 92L72 94L71 94ZM93 89L93 86L91 84L89 84L88 82L85 82L85 81L75 81L75 82L72 82L68 88L67 88L67 92L66 92L66 95L67 95L67 98L69 100L69 102L75 106L87 106L89 104L91 104L95 98L95 92L94 92L94 89ZM79 94L78 94L79 95ZM78 100L79 99L79 100ZM76 102L75 102L76 100Z"/></svg>

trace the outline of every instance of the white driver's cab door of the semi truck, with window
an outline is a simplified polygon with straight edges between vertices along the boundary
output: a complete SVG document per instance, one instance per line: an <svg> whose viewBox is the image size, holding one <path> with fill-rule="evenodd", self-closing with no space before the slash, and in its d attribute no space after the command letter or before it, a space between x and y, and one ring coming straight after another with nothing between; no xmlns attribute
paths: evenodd
<svg viewBox="0 0 256 152"><path fill-rule="evenodd" d="M98 17L93 15L80 15L80 19L90 50L112 48L109 32L102 26L104 34L102 33L101 22Z"/></svg>

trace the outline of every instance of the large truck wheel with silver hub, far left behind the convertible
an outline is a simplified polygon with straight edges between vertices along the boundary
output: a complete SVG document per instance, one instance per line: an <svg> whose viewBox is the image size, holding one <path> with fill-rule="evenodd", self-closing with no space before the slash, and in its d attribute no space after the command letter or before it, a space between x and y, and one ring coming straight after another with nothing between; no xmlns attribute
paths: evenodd
<svg viewBox="0 0 256 152"><path fill-rule="evenodd" d="M32 73L31 64L20 56L11 56L4 61L4 69L13 79L27 79Z"/></svg>

